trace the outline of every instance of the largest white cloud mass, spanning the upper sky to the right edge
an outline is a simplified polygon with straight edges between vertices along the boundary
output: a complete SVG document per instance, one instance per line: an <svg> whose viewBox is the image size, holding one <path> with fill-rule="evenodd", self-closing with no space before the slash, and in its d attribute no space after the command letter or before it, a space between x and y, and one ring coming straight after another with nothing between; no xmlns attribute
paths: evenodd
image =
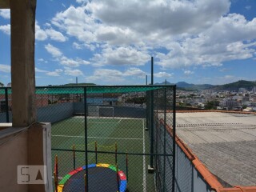
<svg viewBox="0 0 256 192"><path fill-rule="evenodd" d="M75 49L97 47L94 66L142 66L154 48L167 51L155 53L162 69L222 66L255 53L256 18L229 9L229 0L95 0L70 6L51 23L77 38Z"/></svg>

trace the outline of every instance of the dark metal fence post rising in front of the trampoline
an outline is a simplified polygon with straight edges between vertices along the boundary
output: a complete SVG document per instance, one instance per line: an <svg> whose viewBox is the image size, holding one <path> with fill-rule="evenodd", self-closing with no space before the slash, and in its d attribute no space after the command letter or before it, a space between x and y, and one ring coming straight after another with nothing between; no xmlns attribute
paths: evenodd
<svg viewBox="0 0 256 192"><path fill-rule="evenodd" d="M88 174L88 147L87 147L87 95L86 95L86 86L84 87L84 90L83 90L83 95L84 95L84 110L85 110L85 155L86 155L86 191L89 190L89 183L88 183L88 177L89 177L89 174Z"/></svg>

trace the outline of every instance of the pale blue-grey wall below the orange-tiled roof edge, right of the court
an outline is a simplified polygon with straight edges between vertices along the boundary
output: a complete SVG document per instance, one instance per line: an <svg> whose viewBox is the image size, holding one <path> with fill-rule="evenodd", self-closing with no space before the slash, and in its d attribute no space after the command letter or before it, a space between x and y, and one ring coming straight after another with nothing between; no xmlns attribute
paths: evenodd
<svg viewBox="0 0 256 192"><path fill-rule="evenodd" d="M166 130L161 124L161 130ZM156 129L155 129L156 130ZM160 130L159 130L160 131ZM159 138L164 138L164 131L156 133ZM164 146L163 141L158 139L158 153L163 154ZM166 154L172 154L173 138L166 130ZM176 147L176 165L175 165L175 192L211 192L210 185L202 178L202 175L195 169L194 164L183 152L182 148ZM172 174L173 174L173 158L166 158L166 190L172 191ZM160 158L158 165L164 165L163 158ZM160 167L161 168L161 167ZM162 169L162 168L161 168ZM163 170L163 169L162 169ZM162 172L163 173L163 172Z"/></svg>

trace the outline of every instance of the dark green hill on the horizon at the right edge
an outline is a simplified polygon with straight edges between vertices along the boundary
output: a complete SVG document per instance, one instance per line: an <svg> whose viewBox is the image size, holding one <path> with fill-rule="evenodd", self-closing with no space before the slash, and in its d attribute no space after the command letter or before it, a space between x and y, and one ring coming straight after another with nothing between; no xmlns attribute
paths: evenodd
<svg viewBox="0 0 256 192"><path fill-rule="evenodd" d="M252 90L256 86L256 82L250 82L241 80L238 82L228 83L222 86L213 86L213 90L235 90L238 91L239 88L245 88L246 90Z"/></svg>

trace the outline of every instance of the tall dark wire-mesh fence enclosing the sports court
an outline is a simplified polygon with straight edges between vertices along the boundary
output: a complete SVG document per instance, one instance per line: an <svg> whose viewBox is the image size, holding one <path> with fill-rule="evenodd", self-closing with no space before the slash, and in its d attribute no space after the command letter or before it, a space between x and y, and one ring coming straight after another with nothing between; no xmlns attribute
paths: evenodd
<svg viewBox="0 0 256 192"><path fill-rule="evenodd" d="M37 87L54 190L174 191L174 98L175 86Z"/></svg>

